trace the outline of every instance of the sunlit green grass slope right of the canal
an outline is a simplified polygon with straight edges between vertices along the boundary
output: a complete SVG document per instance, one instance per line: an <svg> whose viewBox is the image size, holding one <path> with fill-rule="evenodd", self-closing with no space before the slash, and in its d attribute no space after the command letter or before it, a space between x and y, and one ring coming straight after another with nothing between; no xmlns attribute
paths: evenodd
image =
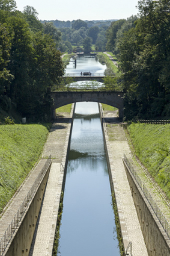
<svg viewBox="0 0 170 256"><path fill-rule="evenodd" d="M127 126L135 154L170 199L170 125Z"/></svg>

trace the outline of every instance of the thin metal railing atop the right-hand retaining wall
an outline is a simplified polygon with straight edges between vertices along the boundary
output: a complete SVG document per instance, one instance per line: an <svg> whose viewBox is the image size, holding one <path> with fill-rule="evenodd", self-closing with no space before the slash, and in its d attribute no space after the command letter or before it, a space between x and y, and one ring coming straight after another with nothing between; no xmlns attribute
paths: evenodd
<svg viewBox="0 0 170 256"><path fill-rule="evenodd" d="M163 215L162 211L160 211L159 207L157 206L156 202L154 201L153 197L151 196L150 192L148 192L147 188L145 187L145 183L141 181L141 178L139 178L136 170L133 168L130 161L127 159L126 155L124 154L124 161L126 162L127 166L130 169L130 172L132 172L132 175L134 176L136 182L138 183L139 187L141 188L142 192L145 195L145 198L147 198L148 203L151 205L151 208L153 209L154 213L156 214L157 218L159 219L159 222L161 223L163 229L165 230L167 236L170 239L170 225L168 221L166 220L166 217Z"/></svg>

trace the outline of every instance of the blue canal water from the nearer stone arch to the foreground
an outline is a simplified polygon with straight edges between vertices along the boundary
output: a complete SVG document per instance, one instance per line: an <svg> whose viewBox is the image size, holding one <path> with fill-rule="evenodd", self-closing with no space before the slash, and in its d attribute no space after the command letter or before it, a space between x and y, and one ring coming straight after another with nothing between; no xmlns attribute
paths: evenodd
<svg viewBox="0 0 170 256"><path fill-rule="evenodd" d="M99 108L76 104L64 191L61 256L118 256Z"/></svg>

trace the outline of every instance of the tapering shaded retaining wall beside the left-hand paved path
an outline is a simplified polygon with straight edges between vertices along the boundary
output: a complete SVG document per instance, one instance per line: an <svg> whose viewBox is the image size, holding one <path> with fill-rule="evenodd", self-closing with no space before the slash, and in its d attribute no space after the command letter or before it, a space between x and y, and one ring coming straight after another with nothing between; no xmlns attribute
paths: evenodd
<svg viewBox="0 0 170 256"><path fill-rule="evenodd" d="M46 188L46 183L49 176L50 166L51 163L47 169L47 172L43 176L41 183L35 191L34 198L32 198L31 202L29 202L28 208L19 223L19 227L16 229L13 235L13 239L7 246L4 255L29 255L29 249L31 248L32 238L34 236L35 226L41 207L41 200L43 199L44 190Z"/></svg>

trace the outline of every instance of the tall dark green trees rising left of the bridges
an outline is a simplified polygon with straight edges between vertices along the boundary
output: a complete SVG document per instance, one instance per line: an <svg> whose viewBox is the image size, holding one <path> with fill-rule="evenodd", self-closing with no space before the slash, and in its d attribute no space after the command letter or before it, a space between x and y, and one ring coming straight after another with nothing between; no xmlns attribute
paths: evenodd
<svg viewBox="0 0 170 256"><path fill-rule="evenodd" d="M0 108L44 119L52 104L48 90L59 84L64 66L60 32L37 14L33 7L20 12L15 1L0 0Z"/></svg>

